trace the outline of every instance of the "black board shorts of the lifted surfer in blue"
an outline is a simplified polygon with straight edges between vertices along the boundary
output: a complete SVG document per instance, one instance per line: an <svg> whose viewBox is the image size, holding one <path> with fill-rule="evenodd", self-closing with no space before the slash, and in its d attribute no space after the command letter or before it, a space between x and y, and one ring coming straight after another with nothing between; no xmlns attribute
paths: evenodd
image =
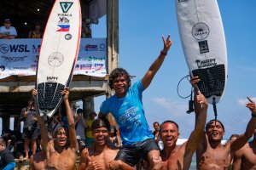
<svg viewBox="0 0 256 170"><path fill-rule="evenodd" d="M124 161L134 167L142 158L148 160L148 152L151 150L159 150L154 139L146 139L136 144L123 144L114 160Z"/></svg>

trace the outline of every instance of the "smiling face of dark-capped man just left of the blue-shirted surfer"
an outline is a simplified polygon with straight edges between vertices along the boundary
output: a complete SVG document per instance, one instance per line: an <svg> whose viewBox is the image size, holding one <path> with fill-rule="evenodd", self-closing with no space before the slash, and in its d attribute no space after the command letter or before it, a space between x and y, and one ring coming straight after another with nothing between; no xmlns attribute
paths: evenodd
<svg viewBox="0 0 256 170"><path fill-rule="evenodd" d="M108 141L108 129L107 127L98 127L92 131L94 142L98 146L104 146Z"/></svg>

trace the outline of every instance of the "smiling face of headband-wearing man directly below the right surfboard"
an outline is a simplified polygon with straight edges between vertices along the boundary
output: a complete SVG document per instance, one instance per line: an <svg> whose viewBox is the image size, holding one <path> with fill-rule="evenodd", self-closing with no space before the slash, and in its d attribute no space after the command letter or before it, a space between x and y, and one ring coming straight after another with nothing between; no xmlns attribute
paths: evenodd
<svg viewBox="0 0 256 170"><path fill-rule="evenodd" d="M221 123L212 121L207 127L207 136L210 141L221 141L224 136L224 128Z"/></svg>

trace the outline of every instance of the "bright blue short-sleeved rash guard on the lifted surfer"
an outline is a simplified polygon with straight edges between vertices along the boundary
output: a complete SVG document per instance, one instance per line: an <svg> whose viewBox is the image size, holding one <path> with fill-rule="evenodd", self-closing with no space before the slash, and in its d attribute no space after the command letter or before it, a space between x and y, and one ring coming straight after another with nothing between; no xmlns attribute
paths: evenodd
<svg viewBox="0 0 256 170"><path fill-rule="evenodd" d="M101 105L100 112L104 115L111 112L117 122L122 144L154 139L143 110L143 90L142 81L138 81L128 88L125 97L113 95Z"/></svg>

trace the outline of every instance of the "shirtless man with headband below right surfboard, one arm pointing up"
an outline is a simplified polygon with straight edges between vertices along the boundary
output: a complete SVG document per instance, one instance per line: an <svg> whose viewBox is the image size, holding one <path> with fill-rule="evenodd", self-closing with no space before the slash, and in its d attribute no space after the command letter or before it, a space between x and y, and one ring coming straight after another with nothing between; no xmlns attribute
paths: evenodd
<svg viewBox="0 0 256 170"><path fill-rule="evenodd" d="M192 84L199 82L199 77L191 80ZM197 91L195 90L195 94ZM207 123L206 132L201 135L201 143L196 150L197 169L228 169L231 161L231 154L239 150L253 135L256 124L256 108L252 99L248 98L247 108L252 111L252 118L247 124L246 132L236 139L221 144L224 136L224 125L220 121L211 120ZM195 102L196 104L196 102ZM195 117L198 116L198 105L195 105Z"/></svg>

